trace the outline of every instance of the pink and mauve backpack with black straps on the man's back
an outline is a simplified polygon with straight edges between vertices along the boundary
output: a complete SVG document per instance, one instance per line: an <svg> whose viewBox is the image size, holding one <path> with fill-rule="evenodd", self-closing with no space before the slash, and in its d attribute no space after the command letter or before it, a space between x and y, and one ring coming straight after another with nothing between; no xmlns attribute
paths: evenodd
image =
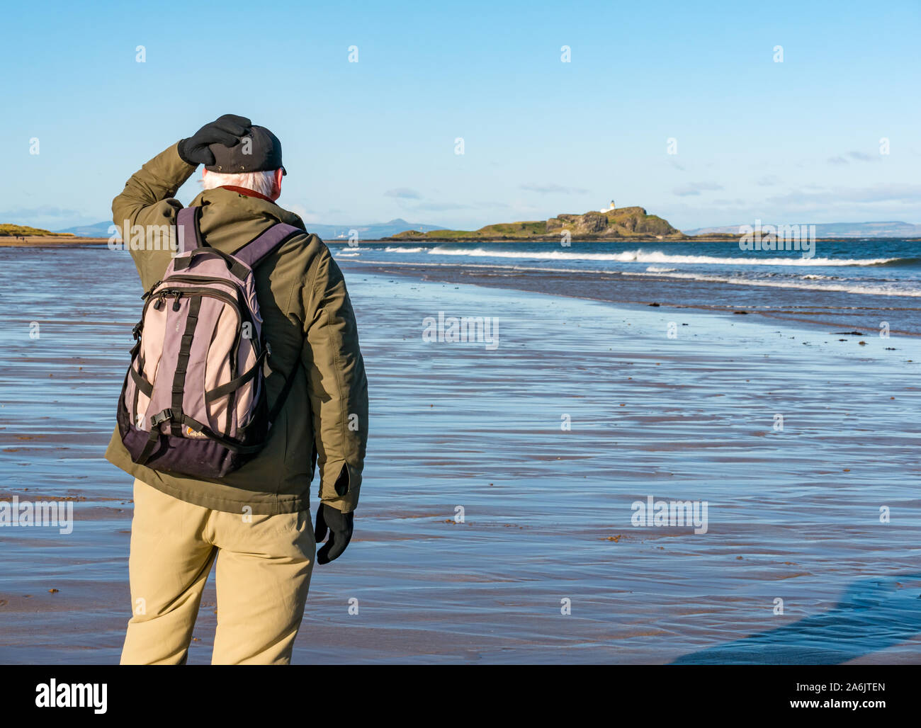
<svg viewBox="0 0 921 728"><path fill-rule="evenodd" d="M220 479L262 450L293 384L297 366L269 410L252 271L303 230L279 223L228 255L204 244L201 213L177 214L177 254L142 296L117 421L138 465Z"/></svg>

